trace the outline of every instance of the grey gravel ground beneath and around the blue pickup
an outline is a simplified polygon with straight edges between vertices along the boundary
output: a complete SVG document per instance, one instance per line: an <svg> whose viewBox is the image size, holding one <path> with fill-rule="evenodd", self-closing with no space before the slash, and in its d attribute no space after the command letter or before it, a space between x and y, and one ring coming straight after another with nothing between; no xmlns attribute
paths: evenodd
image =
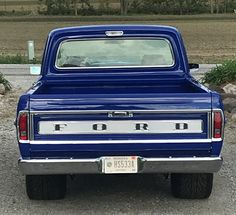
<svg viewBox="0 0 236 215"><path fill-rule="evenodd" d="M170 181L162 175L77 176L68 180L60 201L30 201L24 176L18 170L15 128L18 95L35 77L9 77L14 92L0 97L0 214L236 214L236 124L226 126L224 165L215 175L207 200L179 200L171 196ZM14 81L17 80L17 81ZM24 89L20 89L23 86Z"/></svg>

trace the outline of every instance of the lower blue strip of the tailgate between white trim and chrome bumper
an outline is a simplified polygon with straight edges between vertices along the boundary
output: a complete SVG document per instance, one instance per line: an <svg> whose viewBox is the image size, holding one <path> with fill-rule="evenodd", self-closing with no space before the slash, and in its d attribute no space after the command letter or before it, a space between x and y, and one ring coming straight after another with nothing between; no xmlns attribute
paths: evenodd
<svg viewBox="0 0 236 215"><path fill-rule="evenodd" d="M194 150L193 150L194 149ZM101 156L138 155L141 157L212 156L211 144L71 144L32 145L31 156L96 158Z"/></svg>

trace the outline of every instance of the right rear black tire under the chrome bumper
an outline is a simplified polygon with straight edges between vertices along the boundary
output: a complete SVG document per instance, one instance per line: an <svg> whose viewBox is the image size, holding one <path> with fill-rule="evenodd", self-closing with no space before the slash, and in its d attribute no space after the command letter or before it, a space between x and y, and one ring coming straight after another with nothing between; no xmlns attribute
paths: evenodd
<svg viewBox="0 0 236 215"><path fill-rule="evenodd" d="M206 199L211 195L212 173L171 174L173 196L182 199Z"/></svg>

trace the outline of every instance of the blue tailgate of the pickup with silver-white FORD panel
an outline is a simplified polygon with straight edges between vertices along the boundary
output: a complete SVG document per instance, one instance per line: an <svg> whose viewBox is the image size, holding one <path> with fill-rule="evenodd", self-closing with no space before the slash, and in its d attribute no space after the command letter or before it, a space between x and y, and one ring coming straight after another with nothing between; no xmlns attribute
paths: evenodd
<svg viewBox="0 0 236 215"><path fill-rule="evenodd" d="M32 157L208 156L211 151L208 93L32 95L30 115Z"/></svg>

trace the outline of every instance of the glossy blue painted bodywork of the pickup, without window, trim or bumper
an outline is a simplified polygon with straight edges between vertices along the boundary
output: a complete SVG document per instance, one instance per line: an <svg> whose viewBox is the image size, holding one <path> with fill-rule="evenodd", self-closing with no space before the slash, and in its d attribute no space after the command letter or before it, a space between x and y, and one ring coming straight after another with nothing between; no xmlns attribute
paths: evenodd
<svg viewBox="0 0 236 215"><path fill-rule="evenodd" d="M124 31L123 38L162 37L171 43L175 65L171 68L90 68L58 70L55 58L60 43L68 39L109 39L105 31ZM186 110L222 109L219 94L211 92L189 73L188 59L178 30L167 26L109 25L62 28L47 39L42 62L42 76L21 96L17 113L28 111L75 110ZM218 156L222 142L167 144L165 139L204 139L207 137L207 115L140 114L134 119L202 119L202 134L159 135L39 135L40 120L105 120L107 115L36 115L35 140L107 140L160 139L159 144L19 144L23 158L94 158L109 155L145 157Z"/></svg>

